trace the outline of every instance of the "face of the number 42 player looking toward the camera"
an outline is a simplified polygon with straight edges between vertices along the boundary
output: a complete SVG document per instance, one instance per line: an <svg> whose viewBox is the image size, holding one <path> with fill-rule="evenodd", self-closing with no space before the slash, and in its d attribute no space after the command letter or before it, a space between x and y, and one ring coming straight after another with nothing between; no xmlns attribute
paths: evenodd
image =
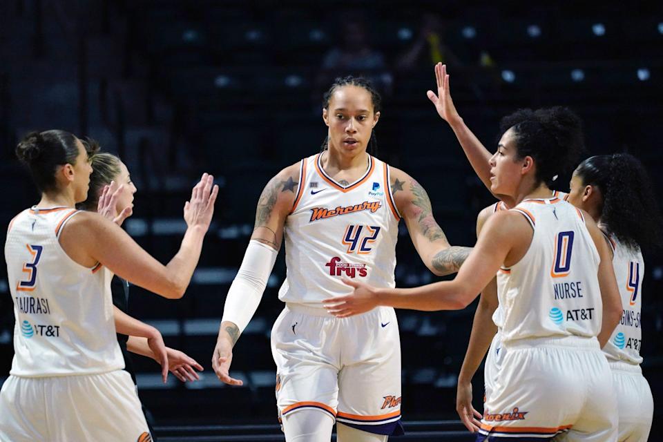
<svg viewBox="0 0 663 442"><path fill-rule="evenodd" d="M323 108L323 119L329 127L329 148L341 155L354 157L366 151L380 113L373 112L371 94L358 86L337 88Z"/></svg>

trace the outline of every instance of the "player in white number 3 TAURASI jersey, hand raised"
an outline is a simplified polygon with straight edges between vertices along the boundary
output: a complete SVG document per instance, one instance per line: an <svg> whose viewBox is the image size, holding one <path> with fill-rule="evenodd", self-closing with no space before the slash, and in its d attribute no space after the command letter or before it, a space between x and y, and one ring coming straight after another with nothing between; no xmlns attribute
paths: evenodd
<svg viewBox="0 0 663 442"><path fill-rule="evenodd" d="M30 133L17 156L41 200L10 222L5 244L16 328L12 369L0 392L0 440L150 441L131 376L122 370L111 272L180 298L218 189L206 174L193 188L182 247L164 266L110 220L74 209L87 198L92 172L77 137ZM155 338L141 329L117 331Z"/></svg>

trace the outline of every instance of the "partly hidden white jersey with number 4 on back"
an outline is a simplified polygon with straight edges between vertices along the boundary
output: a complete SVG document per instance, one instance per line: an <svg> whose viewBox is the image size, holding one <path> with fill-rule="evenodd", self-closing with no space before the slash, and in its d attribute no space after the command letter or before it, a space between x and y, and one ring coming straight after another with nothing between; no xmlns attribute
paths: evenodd
<svg viewBox="0 0 663 442"><path fill-rule="evenodd" d="M644 259L640 249L631 249L617 238L608 238L613 249L613 267L619 294L622 297L622 320L613 336L603 347L608 360L624 361L634 365L642 363L642 279Z"/></svg>

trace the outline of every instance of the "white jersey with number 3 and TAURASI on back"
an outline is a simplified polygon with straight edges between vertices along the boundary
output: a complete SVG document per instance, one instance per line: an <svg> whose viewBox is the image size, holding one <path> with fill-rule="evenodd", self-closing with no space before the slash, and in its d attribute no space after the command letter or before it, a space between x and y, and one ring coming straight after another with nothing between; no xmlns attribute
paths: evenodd
<svg viewBox="0 0 663 442"><path fill-rule="evenodd" d="M73 261L59 233L79 213L70 207L25 210L5 242L14 300L15 376L98 374L124 367L117 345L112 273Z"/></svg>

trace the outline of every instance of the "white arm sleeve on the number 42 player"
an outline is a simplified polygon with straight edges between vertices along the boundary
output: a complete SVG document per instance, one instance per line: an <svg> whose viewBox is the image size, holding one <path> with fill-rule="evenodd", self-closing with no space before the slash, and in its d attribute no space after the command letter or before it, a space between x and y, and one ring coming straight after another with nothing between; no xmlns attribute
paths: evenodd
<svg viewBox="0 0 663 442"><path fill-rule="evenodd" d="M260 304L277 255L278 251L267 244L257 240L249 241L240 270L226 296L221 322L230 321L237 325L240 333L244 332Z"/></svg>

